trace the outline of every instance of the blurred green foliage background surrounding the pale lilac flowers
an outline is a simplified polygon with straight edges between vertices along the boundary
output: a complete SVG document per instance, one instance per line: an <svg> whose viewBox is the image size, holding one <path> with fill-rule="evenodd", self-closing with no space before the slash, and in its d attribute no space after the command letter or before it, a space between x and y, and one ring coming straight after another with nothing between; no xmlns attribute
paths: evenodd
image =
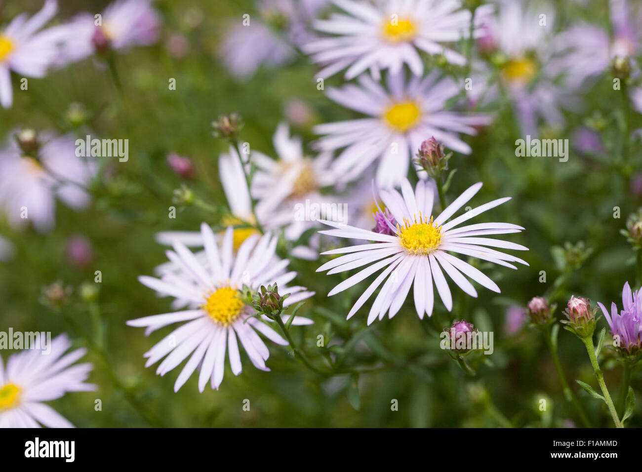
<svg viewBox="0 0 642 472"><path fill-rule="evenodd" d="M555 2L560 28L577 18L601 24L603 4ZM0 24L6 25L21 12L33 14L42 2L1 5ZM55 22L78 12L100 12L106 5L64 0ZM220 114L238 112L245 122L243 141L273 156L272 134L281 121L289 121L293 134L301 135L311 150L313 125L359 115L317 90L313 79L317 67L301 55L278 67L259 67L248 78L230 74L221 60L221 44L244 13L260 15L254 2L155 1L153 6L162 17L160 39L153 46L116 55L121 91L114 71L89 58L51 71L46 78L30 79L28 91L19 89L14 74L13 107L0 111L0 136L7 139L24 127L81 137L91 130L100 137L129 139L129 161L107 165L105 180L92 186L89 209L77 212L58 202L53 231L43 234L31 227L15 231L0 214L0 235L14 247L13 258L0 262L0 330L51 331L52 336L66 332L79 346L89 345L89 339L101 348L90 349L87 356L95 366L90 381L98 385L97 392L67 394L51 402L58 412L79 427L456 427L503 426L506 419L515 426L578 423L564 402L543 338L523 324L518 308L523 310L532 297L550 290L562 274L566 274L562 308L571 294L620 306L623 284L636 281L634 252L620 230L642 200L642 179L637 174L641 146L634 141L632 164L622 170L591 159L575 139L584 130L603 143L606 153L619 152L622 100L608 74L586 92L584 110L567 115L566 127L541 129L542 137L570 139L568 162L516 157L515 140L521 136L510 100L502 97L480 108L495 119L477 137L465 137L473 153L456 153L449 163L458 170L450 195L481 180L484 186L474 199L477 204L513 197L476 222L522 225L526 231L511 235L510 241L530 248L519 254L530 267L488 268L501 294L480 290L478 299L456 306L449 315L439 304L437 315L444 328L447 316L465 317L476 328L494 332L494 353L482 356L476 378L465 376L438 349L435 326L421 329L412 297L394 319L365 328L361 312L345 321L363 287L353 287L345 297L328 298L325 295L340 276L316 274L319 261L292 259L290 268L299 272L298 280L317 292L300 311L315 324L293 331L299 342L315 361L322 362L334 349L346 356L348 365L378 370L360 377L322 378L304 369L285 347L270 345L272 372L254 369L241 354L243 373L233 376L228 365L218 392L207 387L199 394L192 376L175 394L178 371L157 376L155 366L146 369L143 359L168 328L145 337L143 329L130 328L125 321L170 311L169 299L156 297L137 281L166 261L165 248L155 241L155 234L196 231L202 221L220 223L203 209L173 203L174 189L186 185L205 202L225 205L218 155L227 144L213 137L211 122ZM176 80L175 91L168 89L170 78ZM327 80L326 87L340 83L338 75ZM638 114L633 119L635 128L642 125ZM171 153L191 159L189 177L168 165ZM175 219L168 218L171 205L178 207ZM620 218L614 218L614 207L620 207ZM580 241L584 249L575 246ZM567 242L574 247L563 249ZM98 284L96 270L102 276ZM540 271L546 272L546 283L539 281ZM507 318L511 307L512 317ZM555 315L562 317L560 309ZM598 329L604 326L601 319ZM334 347L317 347L320 334ZM571 389L594 426L610 426L603 405L575 383L575 379L595 383L584 346L562 330L559 351ZM0 353L5 362L8 354ZM601 365L617 397L621 369L611 350L604 349ZM639 391L638 378L632 386ZM101 411L94 410L97 398ZM250 400L249 411L243 410L245 399ZM395 399L398 410L391 409ZM539 410L540 399L548 403L544 413ZM640 425L636 417L630 426Z"/></svg>

